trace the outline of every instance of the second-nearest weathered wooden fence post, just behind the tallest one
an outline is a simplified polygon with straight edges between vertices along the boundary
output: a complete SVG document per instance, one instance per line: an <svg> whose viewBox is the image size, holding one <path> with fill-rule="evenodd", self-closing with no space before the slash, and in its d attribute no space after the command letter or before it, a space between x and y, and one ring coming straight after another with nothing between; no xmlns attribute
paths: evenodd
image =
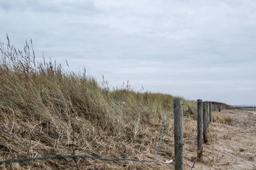
<svg viewBox="0 0 256 170"><path fill-rule="evenodd" d="M202 160L203 155L203 104L202 100L197 100L197 158Z"/></svg>

